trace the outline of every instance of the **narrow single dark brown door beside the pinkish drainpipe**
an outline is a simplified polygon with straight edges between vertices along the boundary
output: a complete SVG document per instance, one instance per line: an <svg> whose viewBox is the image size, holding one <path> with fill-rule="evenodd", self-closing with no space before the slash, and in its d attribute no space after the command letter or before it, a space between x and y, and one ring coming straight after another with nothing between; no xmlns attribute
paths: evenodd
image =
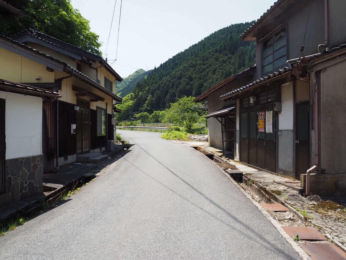
<svg viewBox="0 0 346 260"><path fill-rule="evenodd" d="M310 168L310 135L309 135L309 103L297 104L296 107L296 172L295 178L300 180L300 174Z"/></svg>

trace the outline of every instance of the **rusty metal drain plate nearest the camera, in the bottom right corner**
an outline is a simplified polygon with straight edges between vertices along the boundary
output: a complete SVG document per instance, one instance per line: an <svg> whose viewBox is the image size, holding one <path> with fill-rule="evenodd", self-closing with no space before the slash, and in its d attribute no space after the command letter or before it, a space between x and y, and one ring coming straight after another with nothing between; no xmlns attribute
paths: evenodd
<svg viewBox="0 0 346 260"><path fill-rule="evenodd" d="M346 260L346 253L335 245L298 243L305 251L308 251L312 260Z"/></svg>

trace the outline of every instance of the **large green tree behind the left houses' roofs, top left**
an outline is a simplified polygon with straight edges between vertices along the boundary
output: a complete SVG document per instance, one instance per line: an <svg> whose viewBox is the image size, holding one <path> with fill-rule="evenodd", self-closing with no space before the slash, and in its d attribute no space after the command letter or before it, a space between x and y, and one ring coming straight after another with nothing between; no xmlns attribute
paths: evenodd
<svg viewBox="0 0 346 260"><path fill-rule="evenodd" d="M77 31L59 1L89 44ZM90 21L85 19L78 9L72 7L70 0L12 0L7 2L24 11L26 17L15 20L0 15L0 34L9 37L34 25L38 31L44 34L101 55L99 49L102 43L99 42L99 36L90 31Z"/></svg>

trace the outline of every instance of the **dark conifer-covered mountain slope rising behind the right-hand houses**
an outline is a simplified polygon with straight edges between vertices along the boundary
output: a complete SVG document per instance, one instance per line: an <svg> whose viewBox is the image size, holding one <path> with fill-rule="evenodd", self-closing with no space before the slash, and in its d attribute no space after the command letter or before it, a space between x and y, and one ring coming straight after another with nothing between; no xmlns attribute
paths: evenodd
<svg viewBox="0 0 346 260"><path fill-rule="evenodd" d="M184 96L198 96L219 81L255 63L255 42L239 40L251 23L210 34L155 68L137 84L132 111L165 109Z"/></svg>

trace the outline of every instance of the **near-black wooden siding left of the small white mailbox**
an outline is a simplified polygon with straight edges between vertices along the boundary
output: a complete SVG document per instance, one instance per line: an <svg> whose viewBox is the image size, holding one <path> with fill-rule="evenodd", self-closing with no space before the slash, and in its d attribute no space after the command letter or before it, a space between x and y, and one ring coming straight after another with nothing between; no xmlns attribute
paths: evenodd
<svg viewBox="0 0 346 260"><path fill-rule="evenodd" d="M76 154L76 135L71 124L76 124L74 104L59 101L59 157Z"/></svg>

